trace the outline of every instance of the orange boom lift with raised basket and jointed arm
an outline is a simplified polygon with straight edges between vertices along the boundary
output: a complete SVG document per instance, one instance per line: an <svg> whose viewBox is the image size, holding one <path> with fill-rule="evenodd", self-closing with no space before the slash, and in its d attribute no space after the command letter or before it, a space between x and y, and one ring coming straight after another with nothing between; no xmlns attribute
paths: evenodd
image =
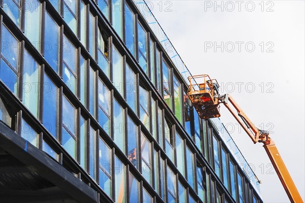
<svg viewBox="0 0 305 203"><path fill-rule="evenodd" d="M220 95L217 80L211 80L208 75L190 76L190 90L188 95L202 119L220 117L219 105L223 103L242 128L247 132L254 144L263 143L263 147L280 178L280 181L291 202L303 202L287 167L275 145L269 137L269 132L258 129L248 116L237 105L229 94ZM197 81L198 82L197 82ZM233 108L231 108L231 106ZM234 112L234 109L237 113Z"/></svg>

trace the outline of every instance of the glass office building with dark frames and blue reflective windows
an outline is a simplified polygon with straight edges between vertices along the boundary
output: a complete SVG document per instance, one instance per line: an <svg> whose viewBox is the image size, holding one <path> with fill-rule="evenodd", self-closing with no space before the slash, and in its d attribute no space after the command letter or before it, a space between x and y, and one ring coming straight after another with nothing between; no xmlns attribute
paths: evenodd
<svg viewBox="0 0 305 203"><path fill-rule="evenodd" d="M262 202L144 1L0 4L0 200Z"/></svg>

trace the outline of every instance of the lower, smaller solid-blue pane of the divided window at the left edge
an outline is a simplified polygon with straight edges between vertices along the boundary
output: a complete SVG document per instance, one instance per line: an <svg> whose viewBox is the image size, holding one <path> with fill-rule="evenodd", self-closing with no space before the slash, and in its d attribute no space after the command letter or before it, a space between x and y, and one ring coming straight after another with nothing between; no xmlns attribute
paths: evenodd
<svg viewBox="0 0 305 203"><path fill-rule="evenodd" d="M18 91L18 77L8 64L0 59L0 80L15 94Z"/></svg>

